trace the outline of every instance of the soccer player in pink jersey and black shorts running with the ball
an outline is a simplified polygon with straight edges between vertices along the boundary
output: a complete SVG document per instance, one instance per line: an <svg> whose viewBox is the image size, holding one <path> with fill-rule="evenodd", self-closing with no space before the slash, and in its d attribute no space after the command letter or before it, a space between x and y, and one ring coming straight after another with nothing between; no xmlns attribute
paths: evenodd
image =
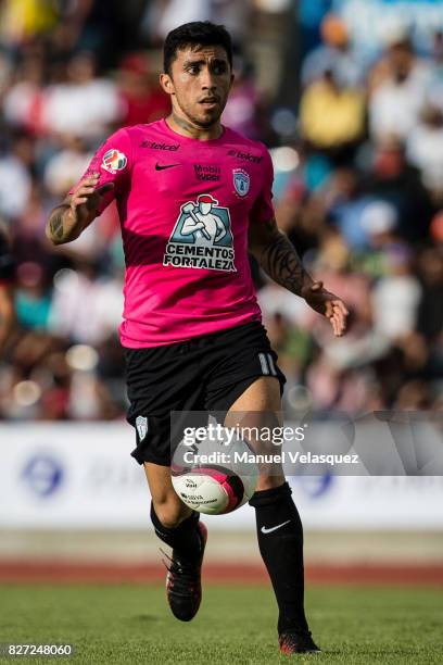
<svg viewBox="0 0 443 665"><path fill-rule="evenodd" d="M220 124L232 79L223 26L198 22L169 33L160 81L170 115L113 134L47 225L54 244L69 242L116 200L126 259L119 332L137 436L131 454L144 465L155 532L173 549L167 598L183 622L201 602L206 529L173 489L169 413L281 407L286 379L261 323L248 251L327 316L334 335L344 332L347 314L278 230L265 147ZM264 470L250 503L278 602L280 650L318 651L303 605L302 523L282 473Z"/></svg>

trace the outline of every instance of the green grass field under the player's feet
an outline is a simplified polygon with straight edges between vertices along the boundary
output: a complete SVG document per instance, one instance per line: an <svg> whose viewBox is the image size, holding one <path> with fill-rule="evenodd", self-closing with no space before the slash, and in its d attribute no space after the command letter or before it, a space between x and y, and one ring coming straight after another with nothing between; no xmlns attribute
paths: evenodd
<svg viewBox="0 0 443 665"><path fill-rule="evenodd" d="M0 642L71 642L75 656L50 661L72 664L425 665L443 661L442 597L429 588L313 587L307 611L325 652L289 658L277 650L274 597L261 586L208 587L198 617L180 624L162 587L4 585Z"/></svg>

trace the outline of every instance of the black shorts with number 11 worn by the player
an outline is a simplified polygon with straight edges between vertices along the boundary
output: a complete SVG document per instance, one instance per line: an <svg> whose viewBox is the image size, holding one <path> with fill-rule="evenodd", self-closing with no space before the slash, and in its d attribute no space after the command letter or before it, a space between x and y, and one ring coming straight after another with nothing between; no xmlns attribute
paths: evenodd
<svg viewBox="0 0 443 665"><path fill-rule="evenodd" d="M170 466L170 412L226 412L260 376L275 376L283 391L266 330L253 322L148 349L125 349L130 402L127 419L136 428L139 464Z"/></svg>

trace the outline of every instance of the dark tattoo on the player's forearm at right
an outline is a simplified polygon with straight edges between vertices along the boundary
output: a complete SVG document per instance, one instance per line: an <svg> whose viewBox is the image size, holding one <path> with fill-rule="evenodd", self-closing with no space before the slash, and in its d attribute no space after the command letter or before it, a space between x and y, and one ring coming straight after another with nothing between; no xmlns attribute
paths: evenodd
<svg viewBox="0 0 443 665"><path fill-rule="evenodd" d="M292 242L282 234L275 219L265 224L266 240L256 256L263 269L277 284L301 296L302 288L313 279L303 267Z"/></svg>

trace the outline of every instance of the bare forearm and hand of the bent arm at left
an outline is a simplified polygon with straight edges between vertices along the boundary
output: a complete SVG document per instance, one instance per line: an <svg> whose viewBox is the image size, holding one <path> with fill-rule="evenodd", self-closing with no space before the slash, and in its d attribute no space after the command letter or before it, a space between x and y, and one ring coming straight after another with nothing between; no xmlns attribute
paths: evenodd
<svg viewBox="0 0 443 665"><path fill-rule="evenodd" d="M104 196L113 183L99 186L100 174L80 180L76 190L54 208L47 223L46 235L53 244L64 244L78 238L100 214Z"/></svg>

